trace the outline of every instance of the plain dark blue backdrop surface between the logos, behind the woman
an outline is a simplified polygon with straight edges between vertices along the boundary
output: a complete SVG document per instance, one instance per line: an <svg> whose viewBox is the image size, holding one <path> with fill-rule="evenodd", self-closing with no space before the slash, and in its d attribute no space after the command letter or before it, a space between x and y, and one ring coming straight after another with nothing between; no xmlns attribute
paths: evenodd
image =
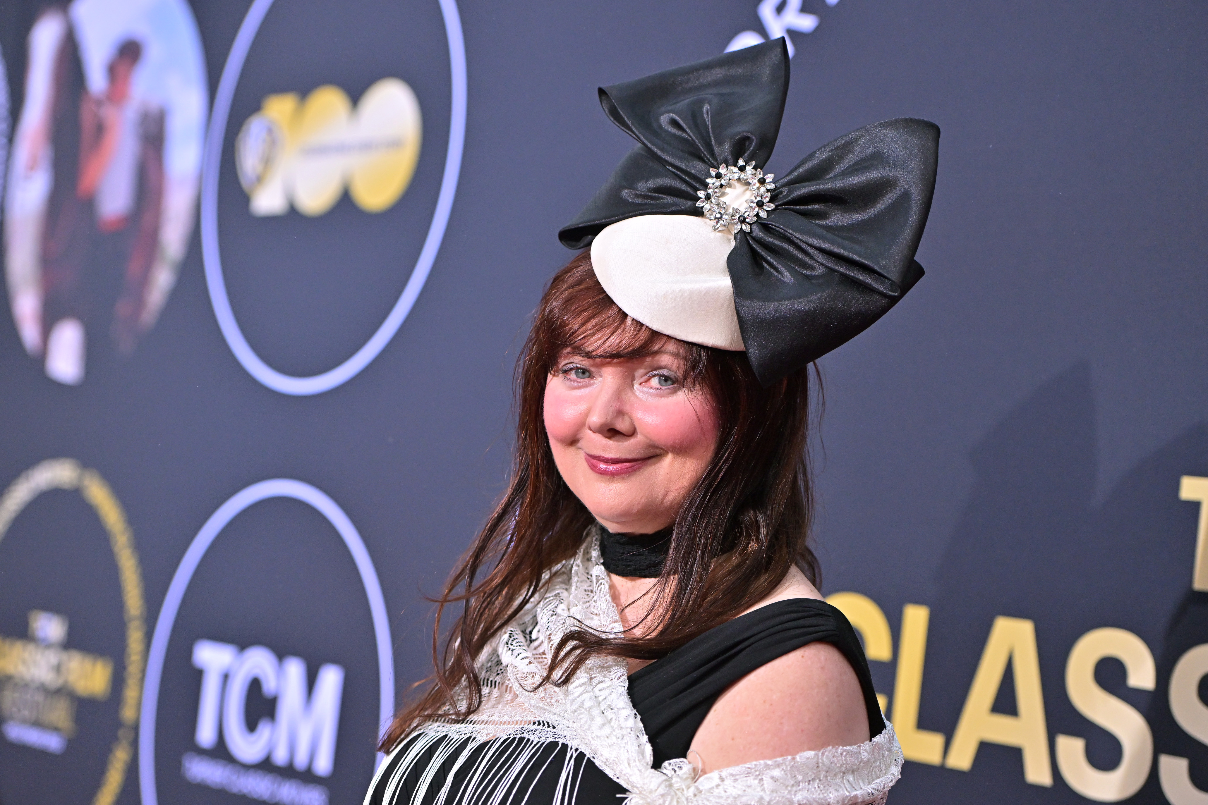
<svg viewBox="0 0 1208 805"><path fill-rule="evenodd" d="M1179 694L1183 714L1169 706L1172 669L1208 642L1208 593L1192 589L1204 526L1198 504L1179 497L1181 477L1208 476L1208 10L1190 1L830 2L806 0L801 12L815 14L817 28L789 30L792 82L769 169L783 171L877 119L923 117L942 130L918 255L927 276L821 361L824 593L855 591L883 612L895 659L872 666L892 718L895 678L904 678L904 606L930 611L922 686L906 695L918 705L914 727L942 735L943 746L935 754L935 739L924 739L933 749L907 752L914 759L893 801L1080 803L1087 786L1128 788L1058 768L1058 735L1085 739L1099 770L1131 763L1145 782L1128 801L1208 801L1171 794L1173 783L1163 795L1158 774L1161 754L1187 758L1190 782L1208 791L1208 746L1187 731L1200 724L1208 740L1204 696L1195 693L1203 663L1184 666L1197 675L1180 688L1191 690L1190 700ZM262 385L220 331L194 229L155 329L129 357L89 354L81 385L50 380L16 329L0 327L0 486L56 457L108 482L140 560L153 666L162 602L211 514L265 479L313 485L347 514L372 558L401 695L429 666L423 594L439 589L503 486L516 348L542 284L570 257L556 232L632 145L604 118L594 88L719 53L744 30L768 35L760 5L782 19L794 7L459 4L467 95L457 194L431 274L381 355L323 393ZM0 0L14 122L37 7ZM192 6L211 99L248 7ZM232 308L274 368L313 374L339 363L402 292L446 170L455 106L448 42L436 0L278 0L268 10L217 147L216 198ZM319 217L252 217L233 144L261 99L333 83L355 104L384 76L406 80L424 113L402 200L367 214L345 196ZM112 692L76 698L79 734L62 754L0 740L5 805L99 797L123 723L130 632L105 549L112 524L72 495L45 492L0 532L0 635L33 646L29 611L66 614L66 648L111 658ZM173 631L155 636L168 664L156 723L158 799L246 803L251 791L182 776L184 749L239 766L221 740L213 749L193 740L203 673L188 652L204 638L301 657L310 684L323 663L347 671L330 777L271 760L244 765L312 786L297 789L303 794L324 786L332 801L355 801L349 792L372 770L382 664L354 561L331 523L303 503L256 503L236 518L199 559ZM232 601L256 617L240 623ZM1011 670L987 660L975 673L983 649L994 653L987 640L998 617L1023 635L1011 642L1003 631L1005 642L994 643L1010 649ZM1030 644L1023 622L1034 630ZM1067 679L1075 642L1100 628L1144 642L1150 683L1144 652L1131 655L1140 657L1131 660L1137 678L1126 681L1125 665L1109 658L1092 664L1090 681ZM1119 651L1132 644L1111 640ZM23 678L4 657L0 681ZM993 718L977 716L975 676L992 683L994 711L1015 717L1003 734L1032 735L1015 740L1026 751L995 742L986 727ZM1122 748L1071 702L1096 686L1144 716L1149 759L1140 733ZM245 728L273 717L266 694L252 688ZM1035 701L1040 739L1028 710ZM949 752L959 748L958 722L976 749L968 770ZM137 745L117 780L123 805L149 803Z"/></svg>

